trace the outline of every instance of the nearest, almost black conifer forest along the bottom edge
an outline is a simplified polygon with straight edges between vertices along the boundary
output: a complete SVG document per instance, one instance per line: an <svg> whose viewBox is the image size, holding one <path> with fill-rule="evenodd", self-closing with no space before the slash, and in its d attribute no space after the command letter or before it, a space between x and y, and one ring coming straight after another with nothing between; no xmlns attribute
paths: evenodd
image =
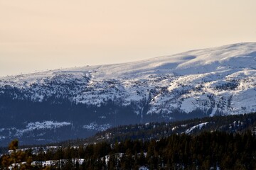
<svg viewBox="0 0 256 170"><path fill-rule="evenodd" d="M202 132L200 135L171 135L161 140L100 142L79 147L18 150L11 142L11 154L1 157L1 169L256 169L256 136ZM55 160L50 166L42 162ZM81 162L82 160L82 162ZM20 166L19 163L24 162ZM32 164L33 162L33 164Z"/></svg>

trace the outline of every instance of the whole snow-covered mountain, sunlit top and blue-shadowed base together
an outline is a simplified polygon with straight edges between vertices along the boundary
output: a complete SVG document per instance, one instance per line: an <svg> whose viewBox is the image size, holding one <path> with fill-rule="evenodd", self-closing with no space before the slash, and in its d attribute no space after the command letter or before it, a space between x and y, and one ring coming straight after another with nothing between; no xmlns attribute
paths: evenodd
<svg viewBox="0 0 256 170"><path fill-rule="evenodd" d="M86 115L84 125L82 120L76 125L84 130L149 120L252 113L256 111L256 42L193 50L139 62L2 77L0 102L4 104L0 103L0 116L5 118L4 113L9 113L16 118L15 114L21 109L9 111L13 105L8 105L7 101L15 101L16 105L21 101L30 102L28 106L33 110L26 108L26 114L30 112L33 123L64 122L60 124L73 127L72 117L76 115L72 114ZM60 105L62 108L65 102L70 102L67 109L77 112L69 114L67 111L63 114L65 118L54 115L61 114L58 107L54 108L55 113L42 111L44 116L35 113L37 105ZM78 106L79 111L74 108ZM82 109L83 106L86 108ZM42 108L46 107L38 109ZM21 120L23 126L32 121L25 120Z"/></svg>

